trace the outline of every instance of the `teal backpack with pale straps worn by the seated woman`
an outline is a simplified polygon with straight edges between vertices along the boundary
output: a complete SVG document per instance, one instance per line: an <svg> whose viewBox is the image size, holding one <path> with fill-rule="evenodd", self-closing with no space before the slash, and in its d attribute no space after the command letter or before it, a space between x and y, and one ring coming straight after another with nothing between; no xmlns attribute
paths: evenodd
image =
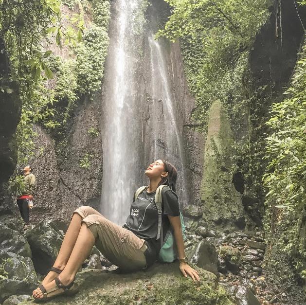
<svg viewBox="0 0 306 305"><path fill-rule="evenodd" d="M173 229L170 227L168 232L165 235L165 238L163 239L163 232L162 232L162 189L168 188L170 190L170 187L168 185L160 185L155 193L155 204L158 211L158 229L157 229L157 236L156 239L161 238L161 251L158 255L158 260L162 263L172 263L178 258L178 252L177 247L175 244L174 239L174 233ZM134 194L134 200L137 199L137 197L145 190L148 186L141 186L137 189L137 191ZM181 231L183 234L183 239L186 239L185 236L185 223L183 216L180 213L180 225L181 225Z"/></svg>

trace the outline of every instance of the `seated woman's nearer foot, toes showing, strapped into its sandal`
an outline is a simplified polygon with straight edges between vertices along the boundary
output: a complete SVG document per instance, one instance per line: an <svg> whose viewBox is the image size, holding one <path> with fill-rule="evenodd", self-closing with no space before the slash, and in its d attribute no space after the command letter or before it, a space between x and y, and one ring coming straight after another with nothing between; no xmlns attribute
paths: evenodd
<svg viewBox="0 0 306 305"><path fill-rule="evenodd" d="M58 276L56 276L55 279L53 281L51 281L50 283L42 285L42 288L38 287L35 290L36 291L35 294L34 294L34 291L33 291L33 296L34 296L35 299L44 299L44 298L49 299L51 297L53 298L54 296L56 296L58 294L62 294L65 291L68 291L69 288L72 288L72 290L74 291L75 289L73 289L74 287L72 285L72 282L73 282L73 280L71 280L71 279L67 279L67 278L64 278L64 277L59 278ZM63 288L61 288L62 285L63 285ZM44 295L44 292L46 292L47 295Z"/></svg>

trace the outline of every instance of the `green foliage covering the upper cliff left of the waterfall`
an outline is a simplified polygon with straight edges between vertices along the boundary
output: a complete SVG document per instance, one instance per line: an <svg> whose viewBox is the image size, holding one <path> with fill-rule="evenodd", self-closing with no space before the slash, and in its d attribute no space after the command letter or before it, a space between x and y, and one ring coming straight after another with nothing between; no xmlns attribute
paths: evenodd
<svg viewBox="0 0 306 305"><path fill-rule="evenodd" d="M78 5L80 13L72 16L62 16L59 0L43 1L41 7L33 0L24 6L24 1L17 6L13 2L0 0L1 8L7 9L0 12L0 34L9 52L10 77L18 81L23 101L17 128L18 163L23 164L34 155L33 123L44 126L61 148L73 109L84 95L92 99L99 90L108 48L109 1L65 1L71 8ZM84 8L93 18L89 29L84 25ZM18 14L24 15L22 27L16 21ZM68 60L54 56L42 47L44 39L47 44L65 43L76 56ZM0 90L10 93L12 89L1 82Z"/></svg>

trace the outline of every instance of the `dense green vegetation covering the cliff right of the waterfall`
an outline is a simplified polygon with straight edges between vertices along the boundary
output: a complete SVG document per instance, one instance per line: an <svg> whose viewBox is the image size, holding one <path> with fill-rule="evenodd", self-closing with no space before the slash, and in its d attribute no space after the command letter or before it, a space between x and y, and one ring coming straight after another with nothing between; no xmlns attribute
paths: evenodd
<svg viewBox="0 0 306 305"><path fill-rule="evenodd" d="M157 36L180 38L185 74L196 98L195 126L206 129L208 109L220 99L236 132L234 170L242 172L247 190L266 196L266 239L281 227L281 239L273 246L289 256L305 279L306 246L301 232L306 209L305 47L291 86L281 102L273 103L268 84L256 87L252 83L248 62L252 42L267 22L273 1L166 1L173 7L172 15ZM274 5L280 3L274 1ZM263 114L264 107L268 115ZM240 136L245 119L248 135Z"/></svg>

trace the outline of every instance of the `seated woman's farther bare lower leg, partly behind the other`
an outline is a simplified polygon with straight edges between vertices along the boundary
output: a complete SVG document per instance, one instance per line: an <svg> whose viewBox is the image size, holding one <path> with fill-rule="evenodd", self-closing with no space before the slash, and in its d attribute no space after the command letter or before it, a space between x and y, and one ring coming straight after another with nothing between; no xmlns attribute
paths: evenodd
<svg viewBox="0 0 306 305"><path fill-rule="evenodd" d="M81 220L82 217L74 213L72 220L70 222L69 228L65 234L63 243L61 245L61 248L58 252L58 256L54 262L54 267L58 268L60 270L63 270L68 262L68 259L71 255L72 249L74 247L74 244L76 242L76 239L79 235L80 229L81 229ZM46 285L47 283L50 283L55 279L55 277L58 275L57 272L50 271L46 277L41 282L42 285ZM35 293L36 290L33 291Z"/></svg>

